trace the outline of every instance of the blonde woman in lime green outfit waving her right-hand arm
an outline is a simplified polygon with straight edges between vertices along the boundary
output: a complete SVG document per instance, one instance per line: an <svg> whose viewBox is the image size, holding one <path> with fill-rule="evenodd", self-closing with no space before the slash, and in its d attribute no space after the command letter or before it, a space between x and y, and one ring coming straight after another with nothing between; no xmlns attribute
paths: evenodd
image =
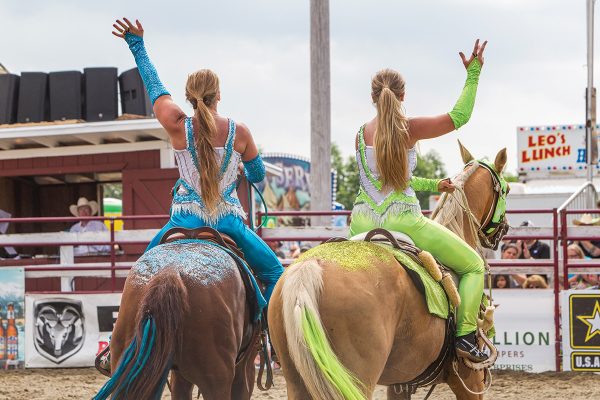
<svg viewBox="0 0 600 400"><path fill-rule="evenodd" d="M456 350L473 361L487 355L476 345L477 313L483 295L484 263L467 243L421 213L415 191L452 191L448 180L413 176L417 165L416 144L452 132L471 117L483 51L479 40L470 58L460 53L467 80L456 105L446 114L410 118L404 114L404 79L391 69L379 71L371 82L371 98L377 115L363 125L356 137L360 191L350 234L374 228L406 233L415 244L432 253L460 276L461 305L457 310Z"/></svg>

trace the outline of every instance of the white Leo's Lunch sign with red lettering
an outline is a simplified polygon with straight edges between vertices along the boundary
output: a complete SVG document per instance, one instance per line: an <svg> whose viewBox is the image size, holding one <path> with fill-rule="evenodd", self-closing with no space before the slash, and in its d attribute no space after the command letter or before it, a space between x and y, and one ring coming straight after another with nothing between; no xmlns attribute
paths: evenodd
<svg viewBox="0 0 600 400"><path fill-rule="evenodd" d="M586 176L583 125L518 127L517 147L521 176L529 179Z"/></svg>

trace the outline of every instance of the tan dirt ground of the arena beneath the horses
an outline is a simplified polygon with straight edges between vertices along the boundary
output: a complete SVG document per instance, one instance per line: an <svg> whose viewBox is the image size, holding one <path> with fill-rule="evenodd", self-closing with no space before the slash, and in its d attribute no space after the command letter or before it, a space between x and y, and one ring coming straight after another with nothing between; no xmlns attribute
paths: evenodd
<svg viewBox="0 0 600 400"><path fill-rule="evenodd" d="M0 399L89 399L104 381L105 378L93 368L0 371ZM422 399L424 395L425 391L421 389L415 398ZM494 374L494 385L486 398L583 400L597 399L599 395L600 375L497 372ZM165 391L163 399L169 398L169 393ZM278 372L275 376L275 386L265 393L255 390L252 398L285 399L283 375ZM454 397L447 387L440 385L431 398L446 400ZM377 389L374 399L385 399L383 387Z"/></svg>

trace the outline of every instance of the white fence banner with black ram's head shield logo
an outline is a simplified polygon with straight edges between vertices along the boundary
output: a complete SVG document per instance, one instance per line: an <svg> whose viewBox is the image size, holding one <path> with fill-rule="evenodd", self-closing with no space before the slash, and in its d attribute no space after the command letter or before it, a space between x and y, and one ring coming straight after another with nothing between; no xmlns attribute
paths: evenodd
<svg viewBox="0 0 600 400"><path fill-rule="evenodd" d="M120 302L120 293L27 295L25 366L93 366L108 345Z"/></svg>

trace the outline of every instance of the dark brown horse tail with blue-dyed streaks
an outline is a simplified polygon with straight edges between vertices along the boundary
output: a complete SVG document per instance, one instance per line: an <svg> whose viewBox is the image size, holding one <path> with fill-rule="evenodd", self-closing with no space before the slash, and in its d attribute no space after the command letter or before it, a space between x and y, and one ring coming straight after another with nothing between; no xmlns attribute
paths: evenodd
<svg viewBox="0 0 600 400"><path fill-rule="evenodd" d="M112 377L94 400L160 399L173 357L181 351L188 292L179 273L166 268L146 285L136 333Z"/></svg>

